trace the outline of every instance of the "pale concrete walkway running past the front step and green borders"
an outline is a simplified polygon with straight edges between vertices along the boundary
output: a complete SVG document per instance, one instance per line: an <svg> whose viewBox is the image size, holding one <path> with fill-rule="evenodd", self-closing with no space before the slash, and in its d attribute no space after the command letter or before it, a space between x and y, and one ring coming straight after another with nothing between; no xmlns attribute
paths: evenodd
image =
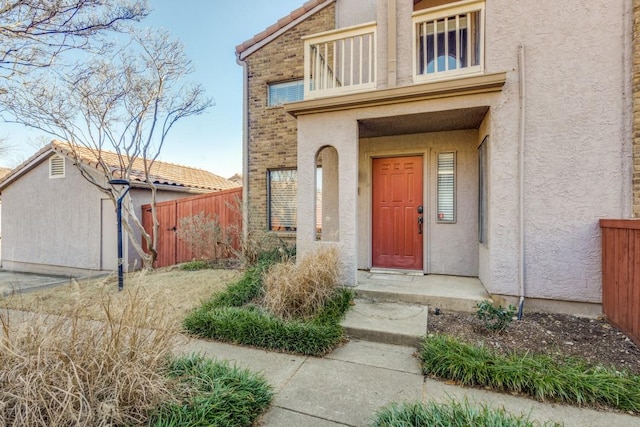
<svg viewBox="0 0 640 427"><path fill-rule="evenodd" d="M514 415L565 426L640 427L640 417L558 404L545 404L424 379L415 348L350 341L323 358L293 356L229 344L191 340L184 353L226 359L262 372L276 396L261 426L366 426L390 402L450 399L504 407Z"/></svg>

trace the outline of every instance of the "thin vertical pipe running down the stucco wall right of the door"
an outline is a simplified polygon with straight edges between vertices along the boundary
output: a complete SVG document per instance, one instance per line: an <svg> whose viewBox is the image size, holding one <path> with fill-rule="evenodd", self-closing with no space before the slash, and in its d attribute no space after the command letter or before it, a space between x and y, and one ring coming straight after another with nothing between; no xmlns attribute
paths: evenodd
<svg viewBox="0 0 640 427"><path fill-rule="evenodd" d="M525 57L524 57L524 45L520 44L518 48L518 71L519 71L519 87L520 87L520 136L518 141L518 181L519 181L519 229L520 229L520 241L518 248L519 255L519 277L520 283L520 302L518 303L518 320L522 320L524 311L524 142L525 142L525 103L527 100L527 93L525 88Z"/></svg>

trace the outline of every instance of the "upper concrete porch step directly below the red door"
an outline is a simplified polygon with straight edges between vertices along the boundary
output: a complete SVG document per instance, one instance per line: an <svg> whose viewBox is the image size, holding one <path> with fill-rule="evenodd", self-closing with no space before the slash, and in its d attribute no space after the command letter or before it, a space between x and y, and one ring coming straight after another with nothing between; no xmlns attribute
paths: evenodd
<svg viewBox="0 0 640 427"><path fill-rule="evenodd" d="M358 276L356 295L380 302L428 305L446 310L475 312L476 304L490 300L477 278L409 276L366 273Z"/></svg>

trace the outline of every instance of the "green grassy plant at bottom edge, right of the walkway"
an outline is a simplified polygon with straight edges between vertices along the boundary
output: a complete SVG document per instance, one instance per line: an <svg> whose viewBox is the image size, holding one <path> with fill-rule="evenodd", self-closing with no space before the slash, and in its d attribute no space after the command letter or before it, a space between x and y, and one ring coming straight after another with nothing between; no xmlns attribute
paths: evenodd
<svg viewBox="0 0 640 427"><path fill-rule="evenodd" d="M513 416L503 408L462 403L392 403L376 413L371 427L534 427L541 425L527 416ZM548 425L548 424L544 424ZM553 424L551 424L553 425ZM557 424L556 424L557 425Z"/></svg>

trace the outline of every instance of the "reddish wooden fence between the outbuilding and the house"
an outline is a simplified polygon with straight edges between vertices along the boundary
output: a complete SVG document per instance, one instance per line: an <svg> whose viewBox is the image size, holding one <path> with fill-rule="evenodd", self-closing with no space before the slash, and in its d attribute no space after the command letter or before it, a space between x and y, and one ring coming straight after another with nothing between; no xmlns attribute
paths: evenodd
<svg viewBox="0 0 640 427"><path fill-rule="evenodd" d="M189 245L178 238L178 228L180 220L201 212L217 219L223 230L235 228L237 238L233 239L232 246L234 249L239 249L242 224L241 200L242 188L240 187L156 204L160 228L158 259L153 264L154 267L166 267L193 259L194 254ZM147 233L151 233L152 224L151 205L143 205L142 225Z"/></svg>

